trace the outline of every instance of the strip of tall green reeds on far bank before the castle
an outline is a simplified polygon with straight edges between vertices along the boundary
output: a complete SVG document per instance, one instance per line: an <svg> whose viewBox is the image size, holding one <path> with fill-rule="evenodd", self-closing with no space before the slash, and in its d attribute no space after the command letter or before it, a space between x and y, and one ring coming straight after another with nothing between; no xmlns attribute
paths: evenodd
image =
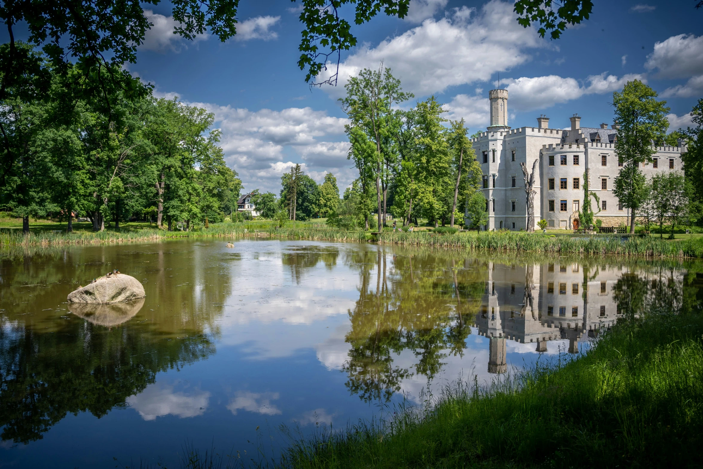
<svg viewBox="0 0 703 469"><path fill-rule="evenodd" d="M384 232L378 242L405 246L433 246L437 248L464 248L470 250L558 252L560 254L630 255L653 257L703 257L703 240L667 241L651 236L572 238L541 233L474 234L392 233Z"/></svg>

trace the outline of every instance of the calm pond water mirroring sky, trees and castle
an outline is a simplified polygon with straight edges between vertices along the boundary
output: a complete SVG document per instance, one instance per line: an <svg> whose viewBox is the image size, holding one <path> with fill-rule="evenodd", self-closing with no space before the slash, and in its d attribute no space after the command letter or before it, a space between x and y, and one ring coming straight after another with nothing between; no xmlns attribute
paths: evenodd
<svg viewBox="0 0 703 469"><path fill-rule="evenodd" d="M338 428L583 351L630 305L683 301L689 267L280 240L6 256L0 467L177 467L186 441L275 451L281 424ZM112 269L146 300L65 302Z"/></svg>

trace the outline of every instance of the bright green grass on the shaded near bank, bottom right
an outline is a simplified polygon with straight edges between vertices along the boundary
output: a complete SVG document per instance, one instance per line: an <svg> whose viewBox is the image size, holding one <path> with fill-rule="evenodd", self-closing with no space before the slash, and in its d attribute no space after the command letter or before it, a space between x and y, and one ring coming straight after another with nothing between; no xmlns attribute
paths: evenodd
<svg viewBox="0 0 703 469"><path fill-rule="evenodd" d="M703 461L703 315L630 319L577 360L426 411L295 442L280 468L693 467Z"/></svg>

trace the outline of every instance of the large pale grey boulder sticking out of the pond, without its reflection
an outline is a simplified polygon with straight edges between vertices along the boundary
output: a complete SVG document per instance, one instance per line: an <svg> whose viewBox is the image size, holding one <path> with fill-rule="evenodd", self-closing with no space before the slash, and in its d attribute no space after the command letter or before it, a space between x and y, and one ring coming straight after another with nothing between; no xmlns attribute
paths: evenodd
<svg viewBox="0 0 703 469"><path fill-rule="evenodd" d="M139 281L125 274L110 274L68 294L69 303L112 304L146 297Z"/></svg>

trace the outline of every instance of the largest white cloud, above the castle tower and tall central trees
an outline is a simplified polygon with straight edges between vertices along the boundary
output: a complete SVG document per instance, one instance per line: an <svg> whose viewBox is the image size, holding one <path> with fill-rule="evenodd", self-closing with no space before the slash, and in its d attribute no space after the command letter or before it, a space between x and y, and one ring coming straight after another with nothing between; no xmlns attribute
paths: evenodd
<svg viewBox="0 0 703 469"><path fill-rule="evenodd" d="M545 46L532 28L515 20L513 5L489 1L476 15L460 8L448 18L427 19L422 25L381 41L365 44L340 65L340 82L328 87L335 96L344 93L344 83L363 68L378 68L383 61L399 77L406 91L426 96L449 86L485 82L530 59L527 49ZM318 80L328 78L336 65Z"/></svg>

